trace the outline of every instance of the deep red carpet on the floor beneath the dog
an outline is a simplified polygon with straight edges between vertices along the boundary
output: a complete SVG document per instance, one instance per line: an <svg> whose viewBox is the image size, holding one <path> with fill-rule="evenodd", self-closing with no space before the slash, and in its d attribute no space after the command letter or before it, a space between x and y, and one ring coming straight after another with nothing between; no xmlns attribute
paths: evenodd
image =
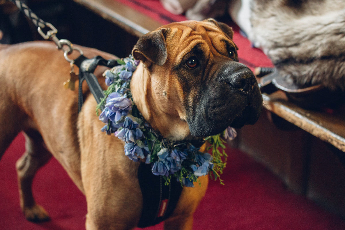
<svg viewBox="0 0 345 230"><path fill-rule="evenodd" d="M51 221L36 224L23 217L15 172L15 162L23 151L20 134L0 161L0 229L85 229L85 198L55 159L38 172L33 184L34 196L50 213ZM228 165L222 176L225 186L210 181L195 213L194 230L345 229L345 221L287 191L279 179L246 154L227 152ZM162 224L145 229L161 230Z"/></svg>

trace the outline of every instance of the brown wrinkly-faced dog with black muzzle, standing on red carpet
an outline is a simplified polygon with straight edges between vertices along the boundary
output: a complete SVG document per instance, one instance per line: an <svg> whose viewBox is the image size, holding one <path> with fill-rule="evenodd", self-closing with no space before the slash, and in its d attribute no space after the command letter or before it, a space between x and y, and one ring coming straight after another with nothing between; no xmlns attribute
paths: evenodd
<svg viewBox="0 0 345 230"><path fill-rule="evenodd" d="M206 137L228 126L254 123L262 98L253 73L237 62L231 28L214 20L172 23L141 37L133 56L141 60L131 81L138 109L164 137ZM114 56L80 48L86 57ZM66 169L87 200L86 229L132 229L141 215L139 162L124 154L124 143L101 132L96 101L83 88L62 87L69 63L50 42L28 42L0 49L0 156L22 130L26 152L17 162L20 204L29 220L45 220L31 182L51 156ZM105 68L98 67L100 82ZM201 186L183 188L165 229L192 229L193 213L205 194Z"/></svg>

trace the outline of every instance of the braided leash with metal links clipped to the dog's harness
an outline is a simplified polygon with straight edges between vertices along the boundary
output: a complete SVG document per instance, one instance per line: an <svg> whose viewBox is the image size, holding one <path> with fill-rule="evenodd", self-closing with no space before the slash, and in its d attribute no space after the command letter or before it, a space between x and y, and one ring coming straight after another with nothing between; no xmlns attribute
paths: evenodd
<svg viewBox="0 0 345 230"><path fill-rule="evenodd" d="M49 22L45 22L39 17L37 17L37 15L33 13L31 9L25 3L23 3L20 0L10 0L10 1L16 4L18 9L22 11L32 21L32 23L37 27L38 33L45 40L53 41L57 45L57 48L63 51L63 56L68 62L70 62L71 68L72 68L74 61L68 58L68 55L70 55L74 50L77 50L80 53L80 55L82 55L83 52L79 48L73 47L73 44L69 40L67 39L59 40L56 37L56 33L58 32L58 30ZM48 31L46 33L43 32L43 29L45 28L48 28Z"/></svg>

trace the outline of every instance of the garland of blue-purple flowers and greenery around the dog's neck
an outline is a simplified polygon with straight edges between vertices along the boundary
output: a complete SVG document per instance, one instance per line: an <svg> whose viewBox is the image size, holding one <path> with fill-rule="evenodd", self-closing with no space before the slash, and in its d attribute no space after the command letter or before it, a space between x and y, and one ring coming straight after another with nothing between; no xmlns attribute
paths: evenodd
<svg viewBox="0 0 345 230"><path fill-rule="evenodd" d="M162 137L145 121L132 100L130 80L139 61L129 56L117 62L119 66L103 73L108 89L97 106L97 112L104 107L99 114L99 119L106 123L102 131L114 133L124 141L126 156L133 161L151 164L152 173L163 176L166 184L172 177L187 187L194 187L193 182L198 181L199 176L210 174L219 178L227 159L225 141L220 134L204 139L211 154L201 153L189 141L171 141ZM236 137L236 131L230 127L223 134L226 139Z"/></svg>

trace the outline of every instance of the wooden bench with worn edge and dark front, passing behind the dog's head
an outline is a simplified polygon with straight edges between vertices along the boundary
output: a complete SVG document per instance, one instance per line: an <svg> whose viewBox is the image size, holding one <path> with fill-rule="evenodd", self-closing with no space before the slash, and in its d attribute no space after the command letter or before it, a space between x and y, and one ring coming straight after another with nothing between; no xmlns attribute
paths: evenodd
<svg viewBox="0 0 345 230"><path fill-rule="evenodd" d="M74 1L136 37L162 26L115 0ZM229 144L262 161L294 192L345 217L345 116L302 109L282 91L263 98L266 110L257 124L240 129ZM295 129L277 129L272 120Z"/></svg>

